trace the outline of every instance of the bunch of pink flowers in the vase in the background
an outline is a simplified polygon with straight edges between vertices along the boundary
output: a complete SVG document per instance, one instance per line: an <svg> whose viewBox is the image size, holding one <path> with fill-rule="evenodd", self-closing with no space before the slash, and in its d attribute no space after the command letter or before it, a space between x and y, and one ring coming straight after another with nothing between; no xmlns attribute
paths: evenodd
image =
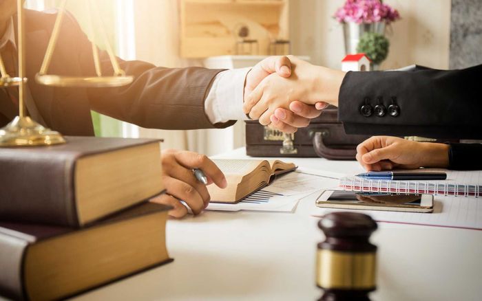
<svg viewBox="0 0 482 301"><path fill-rule="evenodd" d="M400 19L399 12L380 0L346 0L345 4L335 12L338 22L375 23L385 21L387 24Z"/></svg>

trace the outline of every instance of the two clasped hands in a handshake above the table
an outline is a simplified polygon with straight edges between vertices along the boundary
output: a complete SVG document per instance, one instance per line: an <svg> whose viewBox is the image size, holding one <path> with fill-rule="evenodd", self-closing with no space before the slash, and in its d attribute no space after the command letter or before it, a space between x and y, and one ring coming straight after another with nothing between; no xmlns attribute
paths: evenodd
<svg viewBox="0 0 482 301"><path fill-rule="evenodd" d="M243 111L285 133L306 127L328 104L337 106L345 72L295 56L271 56L255 65L244 84Z"/></svg>

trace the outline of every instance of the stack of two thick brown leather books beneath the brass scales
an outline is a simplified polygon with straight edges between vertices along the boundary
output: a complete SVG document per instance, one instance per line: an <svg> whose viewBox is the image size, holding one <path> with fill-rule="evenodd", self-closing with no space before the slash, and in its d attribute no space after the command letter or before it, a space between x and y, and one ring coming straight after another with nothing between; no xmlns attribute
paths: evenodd
<svg viewBox="0 0 482 301"><path fill-rule="evenodd" d="M0 148L0 296L52 300L171 261L158 140Z"/></svg>

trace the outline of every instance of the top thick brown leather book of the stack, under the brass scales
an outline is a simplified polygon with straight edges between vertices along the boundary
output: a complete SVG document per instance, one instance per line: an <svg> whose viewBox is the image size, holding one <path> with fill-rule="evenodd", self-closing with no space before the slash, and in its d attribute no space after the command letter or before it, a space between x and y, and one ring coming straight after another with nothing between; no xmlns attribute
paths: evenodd
<svg viewBox="0 0 482 301"><path fill-rule="evenodd" d="M81 227L163 192L160 141L0 148L0 221Z"/></svg>

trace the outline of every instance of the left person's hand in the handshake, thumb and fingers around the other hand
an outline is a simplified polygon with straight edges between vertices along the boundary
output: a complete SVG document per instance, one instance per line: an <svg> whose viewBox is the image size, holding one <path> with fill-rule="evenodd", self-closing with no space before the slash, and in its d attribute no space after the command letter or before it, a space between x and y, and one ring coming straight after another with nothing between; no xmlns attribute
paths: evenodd
<svg viewBox="0 0 482 301"><path fill-rule="evenodd" d="M266 76L276 73L283 78L289 78L291 76L291 61L287 56L270 56L265 58L260 63L256 64L253 69L249 71L244 83L244 102L247 101L247 97L251 92L258 87L260 82ZM290 107L290 110L280 109L278 111L278 118L273 122L272 127L286 132L295 133L298 128L308 126L311 118L316 118L321 113L314 106L307 104L294 104L294 110ZM297 111L296 111L297 109ZM274 115L273 115L274 118Z"/></svg>

